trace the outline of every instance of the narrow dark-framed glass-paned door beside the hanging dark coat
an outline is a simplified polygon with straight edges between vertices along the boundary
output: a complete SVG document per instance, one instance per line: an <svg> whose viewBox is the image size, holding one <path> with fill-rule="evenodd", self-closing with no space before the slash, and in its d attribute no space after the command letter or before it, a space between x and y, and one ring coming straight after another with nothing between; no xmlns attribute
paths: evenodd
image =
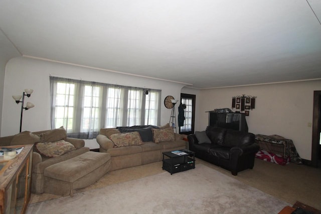
<svg viewBox="0 0 321 214"><path fill-rule="evenodd" d="M195 95L181 94L181 103L186 105L184 109L184 125L180 127L180 134L192 134L194 133L194 121L195 121Z"/></svg>

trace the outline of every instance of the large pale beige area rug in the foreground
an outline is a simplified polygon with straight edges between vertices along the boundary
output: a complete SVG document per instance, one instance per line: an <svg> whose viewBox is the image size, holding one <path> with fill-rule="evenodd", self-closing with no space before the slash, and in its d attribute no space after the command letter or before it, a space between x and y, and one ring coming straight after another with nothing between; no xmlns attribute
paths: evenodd
<svg viewBox="0 0 321 214"><path fill-rule="evenodd" d="M27 213L277 213L289 203L203 164L30 204Z"/></svg>

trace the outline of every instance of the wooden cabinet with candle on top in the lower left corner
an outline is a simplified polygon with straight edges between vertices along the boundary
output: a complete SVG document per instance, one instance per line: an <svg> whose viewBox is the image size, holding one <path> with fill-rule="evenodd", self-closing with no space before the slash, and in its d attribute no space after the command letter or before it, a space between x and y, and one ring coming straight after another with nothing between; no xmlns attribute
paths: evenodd
<svg viewBox="0 0 321 214"><path fill-rule="evenodd" d="M0 156L0 214L25 213L30 200L33 145L6 146L21 147L14 159Z"/></svg>

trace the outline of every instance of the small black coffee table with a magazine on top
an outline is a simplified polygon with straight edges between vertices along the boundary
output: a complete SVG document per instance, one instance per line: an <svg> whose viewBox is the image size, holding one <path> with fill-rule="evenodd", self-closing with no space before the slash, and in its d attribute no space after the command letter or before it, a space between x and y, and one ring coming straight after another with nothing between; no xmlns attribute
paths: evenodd
<svg viewBox="0 0 321 214"><path fill-rule="evenodd" d="M195 152L182 149L176 150L185 152L185 154L178 155L172 151L163 152L163 169L171 174L186 171L195 168Z"/></svg>

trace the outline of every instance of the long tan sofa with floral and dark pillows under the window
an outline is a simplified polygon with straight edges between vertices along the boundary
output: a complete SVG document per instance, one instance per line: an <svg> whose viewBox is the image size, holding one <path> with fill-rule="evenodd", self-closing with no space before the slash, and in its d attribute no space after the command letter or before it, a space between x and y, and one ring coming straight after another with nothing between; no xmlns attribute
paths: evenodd
<svg viewBox="0 0 321 214"><path fill-rule="evenodd" d="M126 144L126 146L117 146L115 144L116 140L122 141L128 137L126 133L132 132L138 132L142 142L137 142L135 145ZM114 136L118 138L114 139ZM162 127L131 126L102 128L96 140L100 146L99 151L110 154L111 171L161 161L164 151L186 149L187 145L187 142L183 140L183 135L174 133L173 128L169 124Z"/></svg>

